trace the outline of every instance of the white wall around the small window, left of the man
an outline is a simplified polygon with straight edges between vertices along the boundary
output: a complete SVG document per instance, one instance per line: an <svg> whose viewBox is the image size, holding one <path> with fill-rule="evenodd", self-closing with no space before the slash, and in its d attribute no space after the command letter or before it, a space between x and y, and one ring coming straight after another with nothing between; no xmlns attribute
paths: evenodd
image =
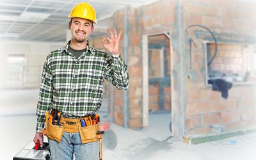
<svg viewBox="0 0 256 160"><path fill-rule="evenodd" d="M38 88L44 61L49 52L62 47L66 43L45 42L0 42L0 89L8 88ZM10 83L10 66L8 54L24 54L24 81L22 83Z"/></svg>

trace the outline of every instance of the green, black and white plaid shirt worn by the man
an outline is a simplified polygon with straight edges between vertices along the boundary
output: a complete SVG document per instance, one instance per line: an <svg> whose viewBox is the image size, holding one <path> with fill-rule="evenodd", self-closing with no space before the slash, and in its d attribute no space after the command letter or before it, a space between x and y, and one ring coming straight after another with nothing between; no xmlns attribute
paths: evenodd
<svg viewBox="0 0 256 160"><path fill-rule="evenodd" d="M45 111L57 109L68 115L84 116L97 111L102 103L103 79L116 88L127 90L129 74L120 56L99 51L89 42L86 52L77 59L65 47L46 58L37 104L36 132L41 132Z"/></svg>

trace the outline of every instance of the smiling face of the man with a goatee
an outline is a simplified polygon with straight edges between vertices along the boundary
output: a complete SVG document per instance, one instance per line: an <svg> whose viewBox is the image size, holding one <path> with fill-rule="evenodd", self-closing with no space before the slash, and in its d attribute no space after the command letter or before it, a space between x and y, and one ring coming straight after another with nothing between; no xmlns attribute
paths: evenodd
<svg viewBox="0 0 256 160"><path fill-rule="evenodd" d="M86 42L93 31L92 21L88 19L72 18L72 24L69 24L72 39L76 42Z"/></svg>

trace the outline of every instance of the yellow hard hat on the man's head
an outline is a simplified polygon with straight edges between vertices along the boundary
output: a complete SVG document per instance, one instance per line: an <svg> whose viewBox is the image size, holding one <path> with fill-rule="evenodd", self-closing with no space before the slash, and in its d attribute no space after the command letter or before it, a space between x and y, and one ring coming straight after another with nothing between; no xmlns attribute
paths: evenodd
<svg viewBox="0 0 256 160"><path fill-rule="evenodd" d="M94 8L89 3L79 3L74 6L68 18L78 17L82 19L92 20L94 23L97 23L96 13Z"/></svg>

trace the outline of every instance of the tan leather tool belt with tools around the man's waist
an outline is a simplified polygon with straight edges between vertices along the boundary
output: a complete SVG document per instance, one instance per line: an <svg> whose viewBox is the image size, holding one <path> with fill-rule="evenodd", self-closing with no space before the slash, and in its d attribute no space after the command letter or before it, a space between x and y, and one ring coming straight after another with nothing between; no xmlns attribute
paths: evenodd
<svg viewBox="0 0 256 160"><path fill-rule="evenodd" d="M49 115L48 111L45 118L45 129L42 133L51 140L60 142L63 132L79 132L81 143L99 141L104 132L99 131L99 115L94 114L82 118L62 117L60 112Z"/></svg>

